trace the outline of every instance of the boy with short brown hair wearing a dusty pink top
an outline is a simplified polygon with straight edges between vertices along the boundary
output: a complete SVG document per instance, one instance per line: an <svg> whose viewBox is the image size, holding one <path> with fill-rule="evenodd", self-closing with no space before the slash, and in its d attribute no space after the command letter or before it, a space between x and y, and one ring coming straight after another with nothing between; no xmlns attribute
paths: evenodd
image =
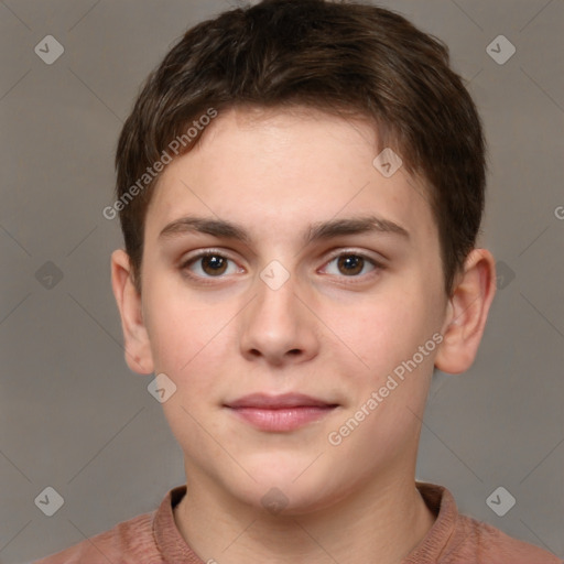
<svg viewBox="0 0 564 564"><path fill-rule="evenodd" d="M39 562L560 562L415 482L433 370L471 366L495 294L441 42L355 3L224 13L150 76L116 161L126 359L186 485Z"/></svg>

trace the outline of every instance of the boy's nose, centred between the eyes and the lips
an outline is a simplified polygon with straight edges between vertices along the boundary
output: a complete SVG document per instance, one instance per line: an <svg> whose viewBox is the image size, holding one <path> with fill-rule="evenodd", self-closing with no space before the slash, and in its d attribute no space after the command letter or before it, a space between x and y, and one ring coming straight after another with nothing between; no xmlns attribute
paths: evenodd
<svg viewBox="0 0 564 564"><path fill-rule="evenodd" d="M241 354L248 360L281 366L304 362L318 352L321 322L311 293L292 274L280 283L280 278L257 276L252 286L254 297L239 319Z"/></svg>

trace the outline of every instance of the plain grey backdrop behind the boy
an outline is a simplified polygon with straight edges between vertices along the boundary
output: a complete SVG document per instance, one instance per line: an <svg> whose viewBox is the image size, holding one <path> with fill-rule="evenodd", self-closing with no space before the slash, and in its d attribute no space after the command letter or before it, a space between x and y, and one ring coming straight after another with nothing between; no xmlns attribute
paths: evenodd
<svg viewBox="0 0 564 564"><path fill-rule="evenodd" d="M564 1L381 4L443 39L471 80L491 167L480 242L503 274L474 367L435 378L417 479L448 487L462 512L564 557L564 220L555 214L564 206ZM109 276L121 236L101 210L141 82L188 26L227 8L0 1L4 564L151 511L185 481L182 452L147 391L152 377L123 360ZM65 48L52 65L34 52L47 34ZM486 51L500 34L517 48L502 65ZM47 261L59 281L46 278ZM53 517L34 503L47 486L64 498ZM505 517L486 503L498 486L517 499Z"/></svg>

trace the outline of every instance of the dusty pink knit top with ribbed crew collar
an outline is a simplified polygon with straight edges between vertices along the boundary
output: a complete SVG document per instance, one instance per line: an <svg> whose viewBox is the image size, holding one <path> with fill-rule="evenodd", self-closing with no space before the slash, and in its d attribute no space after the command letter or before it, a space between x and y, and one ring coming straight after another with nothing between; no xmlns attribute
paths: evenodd
<svg viewBox="0 0 564 564"><path fill-rule="evenodd" d="M459 514L446 488L426 482L416 486L437 518L402 564L564 564L550 552ZM174 522L173 507L185 494L186 486L173 488L155 511L118 523L34 564L206 564Z"/></svg>

